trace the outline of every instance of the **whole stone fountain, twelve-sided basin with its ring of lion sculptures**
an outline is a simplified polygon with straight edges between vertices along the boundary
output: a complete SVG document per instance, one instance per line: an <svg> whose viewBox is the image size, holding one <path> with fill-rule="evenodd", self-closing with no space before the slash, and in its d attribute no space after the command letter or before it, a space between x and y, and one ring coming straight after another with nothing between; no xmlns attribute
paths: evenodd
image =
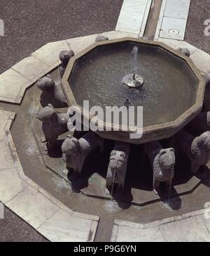
<svg viewBox="0 0 210 256"><path fill-rule="evenodd" d="M160 195L160 184L165 184L165 191L170 193L176 153L190 161L188 172L193 174L210 160L210 94L205 91L209 76L202 77L189 56L188 49L175 51L159 42L102 36L75 56L73 51L63 51L59 55L62 79L56 81L48 75L36 83L42 91L43 109L38 119L43 123L46 151L52 150L58 136L67 133L62 143L63 160L69 174L81 179L88 155L96 151L103 154L106 143L112 141L106 188L113 196L114 188L124 190L130 175L131 147L139 145L143 159L148 158L153 169L153 190ZM134 127L125 131L120 126L116 132L116 124L103 119L97 125L109 127L108 131L84 129L77 135L68 134L71 121L66 107L82 110L83 101L104 110L106 105L143 106L143 135L131 139ZM59 113L55 108L65 111ZM90 122L92 113L82 114L83 120Z"/></svg>

